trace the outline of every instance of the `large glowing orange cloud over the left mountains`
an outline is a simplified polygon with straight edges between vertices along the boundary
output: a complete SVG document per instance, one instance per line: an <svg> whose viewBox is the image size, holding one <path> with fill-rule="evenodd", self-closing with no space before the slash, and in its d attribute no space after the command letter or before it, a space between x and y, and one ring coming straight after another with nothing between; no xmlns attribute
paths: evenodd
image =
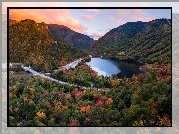
<svg viewBox="0 0 179 134"><path fill-rule="evenodd" d="M78 20L72 18L70 12L66 9L11 9L9 12L11 19L20 21L23 19L32 19L37 23L53 23L65 25L70 29L82 33L87 30Z"/></svg>

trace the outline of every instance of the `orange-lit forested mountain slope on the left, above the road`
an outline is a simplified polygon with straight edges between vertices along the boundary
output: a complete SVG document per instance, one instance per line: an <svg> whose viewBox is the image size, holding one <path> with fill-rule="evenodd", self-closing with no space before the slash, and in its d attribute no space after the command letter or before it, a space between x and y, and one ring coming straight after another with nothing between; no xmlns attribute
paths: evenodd
<svg viewBox="0 0 179 134"><path fill-rule="evenodd" d="M49 71L86 54L52 37L45 24L26 19L9 26L9 61L31 65L37 71Z"/></svg>

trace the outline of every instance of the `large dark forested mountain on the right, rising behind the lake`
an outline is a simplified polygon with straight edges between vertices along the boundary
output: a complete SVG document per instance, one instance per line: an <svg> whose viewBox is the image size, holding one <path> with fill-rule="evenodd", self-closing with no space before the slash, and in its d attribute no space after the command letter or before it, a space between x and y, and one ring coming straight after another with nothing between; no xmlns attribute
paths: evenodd
<svg viewBox="0 0 179 134"><path fill-rule="evenodd" d="M110 30L85 51L94 57L141 64L168 63L171 61L171 20L127 22Z"/></svg>

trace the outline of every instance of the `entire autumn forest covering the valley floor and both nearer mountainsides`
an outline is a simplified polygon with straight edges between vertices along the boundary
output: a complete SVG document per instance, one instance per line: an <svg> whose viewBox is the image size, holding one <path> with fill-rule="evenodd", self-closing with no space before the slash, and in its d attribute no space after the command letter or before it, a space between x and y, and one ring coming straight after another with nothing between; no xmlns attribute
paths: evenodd
<svg viewBox="0 0 179 134"><path fill-rule="evenodd" d="M104 77L85 61L54 71L78 58L89 61L88 54L134 62L146 71L132 78ZM84 51L54 36L45 23L13 21L9 62L68 83L10 75L9 126L171 126L171 25L165 19L126 23Z"/></svg>

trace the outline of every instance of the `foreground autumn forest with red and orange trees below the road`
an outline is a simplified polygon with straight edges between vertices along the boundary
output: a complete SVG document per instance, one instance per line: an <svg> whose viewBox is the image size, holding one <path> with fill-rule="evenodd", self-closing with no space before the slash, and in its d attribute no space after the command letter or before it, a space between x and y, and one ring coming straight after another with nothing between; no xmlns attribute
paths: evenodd
<svg viewBox="0 0 179 134"><path fill-rule="evenodd" d="M170 65L148 69L98 90L10 77L9 126L171 126Z"/></svg>

